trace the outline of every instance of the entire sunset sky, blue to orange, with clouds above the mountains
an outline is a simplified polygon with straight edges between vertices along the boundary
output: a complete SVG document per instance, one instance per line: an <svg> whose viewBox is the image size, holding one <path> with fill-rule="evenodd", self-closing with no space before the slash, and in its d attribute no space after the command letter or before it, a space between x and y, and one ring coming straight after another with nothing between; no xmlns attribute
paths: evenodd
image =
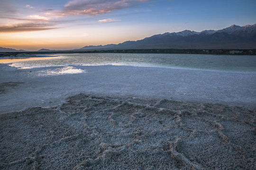
<svg viewBox="0 0 256 170"><path fill-rule="evenodd" d="M256 0L0 0L0 47L37 51L256 24Z"/></svg>

